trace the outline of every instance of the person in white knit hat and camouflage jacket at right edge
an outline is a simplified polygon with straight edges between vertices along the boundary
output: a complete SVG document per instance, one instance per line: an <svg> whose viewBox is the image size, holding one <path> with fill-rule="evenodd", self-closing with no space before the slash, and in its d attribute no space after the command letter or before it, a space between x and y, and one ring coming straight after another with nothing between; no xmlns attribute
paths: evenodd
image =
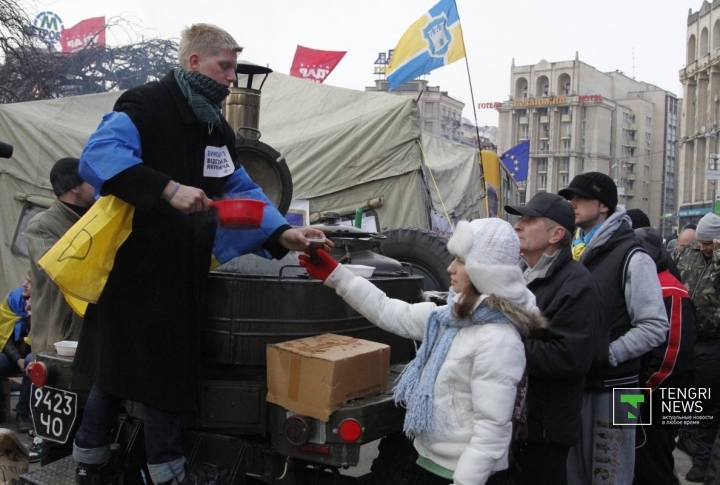
<svg viewBox="0 0 720 485"><path fill-rule="evenodd" d="M713 419L700 420L691 431L695 454L686 476L689 482L702 482L720 423L720 216L705 214L695 237L677 253L676 263L696 308L695 387L710 388L702 414Z"/></svg>

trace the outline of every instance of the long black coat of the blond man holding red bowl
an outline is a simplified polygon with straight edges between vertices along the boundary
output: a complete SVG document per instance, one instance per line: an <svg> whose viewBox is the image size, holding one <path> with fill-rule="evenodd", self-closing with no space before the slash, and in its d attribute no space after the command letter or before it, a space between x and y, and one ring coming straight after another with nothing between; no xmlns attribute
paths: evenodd
<svg viewBox="0 0 720 485"><path fill-rule="evenodd" d="M185 411L195 405L197 342L216 220L213 211L175 210L162 191L174 180L219 198L227 177L203 175L204 152L226 146L235 159L235 137L224 119L210 132L197 121L172 72L126 91L114 110L137 128L142 164L102 189L135 207L132 233L117 252L97 305L88 308L75 366L106 392ZM82 164L81 157L81 169ZM273 255L286 254L268 241L264 247Z"/></svg>

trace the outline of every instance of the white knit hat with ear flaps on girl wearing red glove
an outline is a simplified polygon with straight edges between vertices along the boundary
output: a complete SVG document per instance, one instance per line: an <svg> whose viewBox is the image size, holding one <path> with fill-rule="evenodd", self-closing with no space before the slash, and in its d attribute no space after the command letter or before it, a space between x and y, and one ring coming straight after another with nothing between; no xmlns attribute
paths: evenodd
<svg viewBox="0 0 720 485"><path fill-rule="evenodd" d="M470 281L481 294L535 306L535 296L525 287L518 266L520 240L508 222L497 217L460 221L448 250L465 260Z"/></svg>

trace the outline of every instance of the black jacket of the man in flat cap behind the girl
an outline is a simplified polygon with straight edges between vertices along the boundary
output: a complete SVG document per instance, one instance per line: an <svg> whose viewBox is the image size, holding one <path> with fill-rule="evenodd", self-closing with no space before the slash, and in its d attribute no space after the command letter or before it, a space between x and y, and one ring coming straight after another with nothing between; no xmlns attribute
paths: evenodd
<svg viewBox="0 0 720 485"><path fill-rule="evenodd" d="M521 261L525 269L527 264ZM595 355L601 301L590 272L560 249L528 289L548 320L525 340L528 441L572 446L580 438L585 374Z"/></svg>

